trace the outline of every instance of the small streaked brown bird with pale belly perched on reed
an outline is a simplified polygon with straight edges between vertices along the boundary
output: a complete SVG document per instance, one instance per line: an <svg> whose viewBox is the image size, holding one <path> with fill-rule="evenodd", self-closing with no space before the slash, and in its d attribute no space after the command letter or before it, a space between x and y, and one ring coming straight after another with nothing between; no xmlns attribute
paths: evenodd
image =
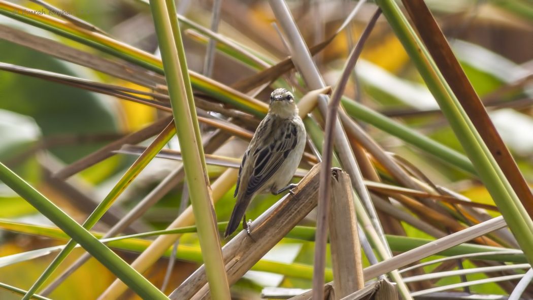
<svg viewBox="0 0 533 300"><path fill-rule="evenodd" d="M270 95L270 107L248 145L240 164L231 213L224 237L228 237L243 220L243 228L250 234L246 222L246 208L258 193L279 194L296 187L292 179L305 148L305 127L298 116L294 96L285 88ZM288 185L287 185L288 184Z"/></svg>

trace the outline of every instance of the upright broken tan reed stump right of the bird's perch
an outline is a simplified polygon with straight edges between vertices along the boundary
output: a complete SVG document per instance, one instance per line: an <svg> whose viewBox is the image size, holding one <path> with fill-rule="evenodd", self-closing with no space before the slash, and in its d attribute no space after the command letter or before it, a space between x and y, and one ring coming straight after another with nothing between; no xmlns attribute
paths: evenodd
<svg viewBox="0 0 533 300"><path fill-rule="evenodd" d="M361 262L361 245L357 233L356 210L350 175L333 168L330 176L333 199L329 218L335 299L365 287Z"/></svg>

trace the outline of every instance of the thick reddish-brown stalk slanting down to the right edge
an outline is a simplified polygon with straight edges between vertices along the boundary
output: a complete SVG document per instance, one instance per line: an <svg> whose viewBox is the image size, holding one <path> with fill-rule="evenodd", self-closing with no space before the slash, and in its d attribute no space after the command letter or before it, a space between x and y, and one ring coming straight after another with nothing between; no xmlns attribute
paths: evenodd
<svg viewBox="0 0 533 300"><path fill-rule="evenodd" d="M402 2L442 76L446 79L490 153L494 156L529 216L533 217L533 194L528 183L520 173L511 153L505 147L496 127L492 124L487 110L483 107L478 94L475 93L453 51L451 51L437 21L423 0L402 0Z"/></svg>

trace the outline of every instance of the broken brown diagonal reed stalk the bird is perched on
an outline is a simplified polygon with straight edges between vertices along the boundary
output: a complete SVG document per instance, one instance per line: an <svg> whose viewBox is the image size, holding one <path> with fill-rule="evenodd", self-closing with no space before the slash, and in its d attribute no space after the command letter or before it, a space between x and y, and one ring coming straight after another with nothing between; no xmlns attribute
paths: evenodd
<svg viewBox="0 0 533 300"><path fill-rule="evenodd" d="M300 181L294 195L288 194L279 200L251 224L251 235L255 241L243 230L222 248L230 285L239 280L317 206L319 170L320 164L315 165ZM205 266L202 265L169 298L201 299L208 295Z"/></svg>

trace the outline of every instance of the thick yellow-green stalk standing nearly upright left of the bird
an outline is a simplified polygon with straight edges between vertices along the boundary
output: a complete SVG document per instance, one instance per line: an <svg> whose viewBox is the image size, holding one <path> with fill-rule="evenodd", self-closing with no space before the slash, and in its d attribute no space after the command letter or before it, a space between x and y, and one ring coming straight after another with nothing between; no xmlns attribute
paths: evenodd
<svg viewBox="0 0 533 300"><path fill-rule="evenodd" d="M166 4L164 0L153 0L150 2L150 9L152 17L154 17L161 49L168 95L180 141L192 210L198 224L198 239L206 267L209 291L213 299L230 299L219 232L214 220L214 208L208 190L209 181L205 172L204 152L199 149L199 147L201 148L201 140L198 140L199 126L196 110L194 106L190 106L194 100L188 99L189 93L192 96L192 89L190 81L185 79L189 76L187 65L184 64L185 54L181 39L175 40L176 36L181 35L180 27L175 19L174 5L168 4L168 1L173 0L167 0Z"/></svg>

